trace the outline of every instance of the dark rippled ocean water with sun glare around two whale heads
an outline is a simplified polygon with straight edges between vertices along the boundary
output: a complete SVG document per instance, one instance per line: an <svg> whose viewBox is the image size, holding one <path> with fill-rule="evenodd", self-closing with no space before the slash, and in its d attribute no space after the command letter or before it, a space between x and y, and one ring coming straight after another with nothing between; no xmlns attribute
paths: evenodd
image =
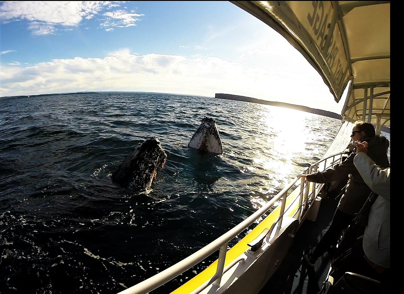
<svg viewBox="0 0 404 294"><path fill-rule="evenodd" d="M187 146L204 116L224 152ZM287 108L158 93L0 100L0 292L117 293L250 216L314 163L341 121ZM112 183L151 136L151 190ZM151 293L168 293L206 260Z"/></svg>

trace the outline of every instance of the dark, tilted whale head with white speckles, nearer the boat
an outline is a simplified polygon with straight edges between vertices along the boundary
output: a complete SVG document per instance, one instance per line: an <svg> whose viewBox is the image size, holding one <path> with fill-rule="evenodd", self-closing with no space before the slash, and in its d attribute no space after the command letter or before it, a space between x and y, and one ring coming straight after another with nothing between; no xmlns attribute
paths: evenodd
<svg viewBox="0 0 404 294"><path fill-rule="evenodd" d="M132 149L112 174L112 181L135 190L150 188L157 170L164 167L166 158L158 138L151 137Z"/></svg>

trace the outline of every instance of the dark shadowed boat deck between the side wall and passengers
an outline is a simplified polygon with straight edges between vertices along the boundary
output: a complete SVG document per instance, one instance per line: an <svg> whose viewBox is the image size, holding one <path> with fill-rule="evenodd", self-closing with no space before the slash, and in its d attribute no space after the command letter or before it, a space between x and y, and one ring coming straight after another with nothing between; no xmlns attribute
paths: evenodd
<svg viewBox="0 0 404 294"><path fill-rule="evenodd" d="M330 267L328 253L310 267L303 258L303 250L316 245L324 235L337 204L335 196L322 199L316 222L305 220L301 224L288 253L259 294L316 294L320 291Z"/></svg>

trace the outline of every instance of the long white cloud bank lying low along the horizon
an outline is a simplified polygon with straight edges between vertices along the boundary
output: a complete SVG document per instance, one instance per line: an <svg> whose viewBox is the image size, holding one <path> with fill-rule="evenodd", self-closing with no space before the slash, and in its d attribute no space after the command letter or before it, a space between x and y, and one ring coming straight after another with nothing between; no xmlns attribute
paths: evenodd
<svg viewBox="0 0 404 294"><path fill-rule="evenodd" d="M269 70L218 57L133 55L120 49L101 58L55 59L34 66L3 66L0 96L76 91L151 91L213 97L233 93L301 104L304 95L324 97L301 73ZM325 87L326 88L326 87ZM325 89L329 93L328 89ZM318 104L318 102L317 102ZM309 107L318 106L307 105Z"/></svg>

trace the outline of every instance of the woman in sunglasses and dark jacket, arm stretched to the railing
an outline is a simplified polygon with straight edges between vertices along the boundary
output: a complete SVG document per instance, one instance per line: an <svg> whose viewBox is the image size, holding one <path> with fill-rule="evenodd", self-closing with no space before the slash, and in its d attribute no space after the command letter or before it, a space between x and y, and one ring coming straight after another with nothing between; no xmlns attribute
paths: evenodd
<svg viewBox="0 0 404 294"><path fill-rule="evenodd" d="M390 165L387 158L389 141L383 136L376 136L375 127L372 124L363 121L357 122L352 129L351 137L353 142L368 142L368 156L377 165L383 169ZM304 177L305 181L315 183L334 182L343 180L346 176L349 177L345 192L338 203L338 207L326 233L313 251L305 250L303 254L303 257L311 266L314 266L318 258L327 252L332 245L336 245L342 231L349 226L353 217L360 211L371 192L353 164L355 155L356 152L351 153L345 161L325 171L298 175L298 178Z"/></svg>

